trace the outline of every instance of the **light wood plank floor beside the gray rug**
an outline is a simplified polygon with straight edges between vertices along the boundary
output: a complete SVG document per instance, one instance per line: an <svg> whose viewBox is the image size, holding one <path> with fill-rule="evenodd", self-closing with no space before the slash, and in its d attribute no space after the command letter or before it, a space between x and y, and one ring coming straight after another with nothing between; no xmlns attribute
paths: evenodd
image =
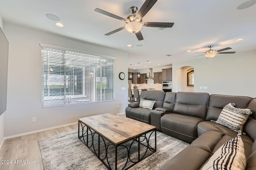
<svg viewBox="0 0 256 170"><path fill-rule="evenodd" d="M125 114L120 116L125 116ZM0 150L0 170L44 170L38 140L77 130L78 124L74 124L5 139ZM7 161L10 160L12 161L12 164L2 164L7 163ZM16 161L16 163L18 162L17 160L24 160L24 162L28 160L29 164L14 164L14 161Z"/></svg>

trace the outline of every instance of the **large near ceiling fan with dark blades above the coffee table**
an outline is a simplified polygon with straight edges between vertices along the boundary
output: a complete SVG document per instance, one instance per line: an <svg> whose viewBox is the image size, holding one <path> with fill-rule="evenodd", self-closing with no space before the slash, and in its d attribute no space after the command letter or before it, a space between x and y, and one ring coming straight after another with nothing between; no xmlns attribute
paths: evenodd
<svg viewBox="0 0 256 170"><path fill-rule="evenodd" d="M99 8L96 8L94 11L126 22L125 26L120 27L114 31L109 32L109 33L106 33L105 35L111 35L113 33L121 31L122 29L126 29L130 33L135 33L136 37L140 41L140 40L143 40L142 33L140 32L140 29L142 28L142 26L166 28L166 27L172 27L174 24L172 22L142 22L142 18L148 13L148 11L152 8L152 6L154 6L156 1L157 0L146 0L137 14L136 14L136 12L138 10L138 7L136 7L136 6L130 7L129 10L132 14L127 16L126 19L124 19L120 16L116 16L114 14L111 14L109 12L106 12L104 10L101 10Z"/></svg>

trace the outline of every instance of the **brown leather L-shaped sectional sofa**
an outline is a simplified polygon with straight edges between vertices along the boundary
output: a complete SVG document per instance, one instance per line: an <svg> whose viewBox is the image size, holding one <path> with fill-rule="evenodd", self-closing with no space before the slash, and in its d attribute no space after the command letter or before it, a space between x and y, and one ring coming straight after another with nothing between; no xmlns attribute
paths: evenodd
<svg viewBox="0 0 256 170"><path fill-rule="evenodd" d="M238 133L214 122L229 103L252 111L244 125L246 135L241 137L246 170L256 170L256 98L157 91L142 92L140 98L156 100L153 109L140 108L139 102L131 103L126 107L126 117L154 125L163 133L191 143L159 170L200 170L218 148L236 137Z"/></svg>

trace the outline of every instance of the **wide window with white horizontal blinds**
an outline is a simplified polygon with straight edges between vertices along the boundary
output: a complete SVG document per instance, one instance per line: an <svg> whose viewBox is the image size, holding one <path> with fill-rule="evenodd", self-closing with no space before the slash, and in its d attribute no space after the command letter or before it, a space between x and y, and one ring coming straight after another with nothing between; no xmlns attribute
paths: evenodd
<svg viewBox="0 0 256 170"><path fill-rule="evenodd" d="M114 57L40 46L42 107L114 100Z"/></svg>

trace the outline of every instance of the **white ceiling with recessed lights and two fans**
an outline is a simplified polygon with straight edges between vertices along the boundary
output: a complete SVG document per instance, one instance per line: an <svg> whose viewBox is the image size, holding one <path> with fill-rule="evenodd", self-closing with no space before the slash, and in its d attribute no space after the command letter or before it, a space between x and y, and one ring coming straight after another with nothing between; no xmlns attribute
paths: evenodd
<svg viewBox="0 0 256 170"><path fill-rule="evenodd" d="M208 45L214 45L215 50L232 48L225 52L256 49L256 4L238 10L238 6L245 2L247 4L242 7L254 4L256 0L158 0L143 21L174 22L174 26L162 30L142 27L142 41L125 29L104 35L124 26L125 22L94 9L100 8L126 18L130 15L128 9L131 6L140 9L144 0L0 0L0 15L4 22L126 51L129 68L130 64L134 66L138 62L140 68L154 68L204 58L194 57L200 55L195 52L205 52ZM57 27L55 21L46 18L46 14L57 15L64 27ZM244 40L236 41L238 38ZM127 47L128 44L134 45L134 48ZM136 47L138 44L143 46ZM187 50L192 51L188 53ZM167 57L167 54L172 56ZM218 54L216 57L225 55Z"/></svg>

